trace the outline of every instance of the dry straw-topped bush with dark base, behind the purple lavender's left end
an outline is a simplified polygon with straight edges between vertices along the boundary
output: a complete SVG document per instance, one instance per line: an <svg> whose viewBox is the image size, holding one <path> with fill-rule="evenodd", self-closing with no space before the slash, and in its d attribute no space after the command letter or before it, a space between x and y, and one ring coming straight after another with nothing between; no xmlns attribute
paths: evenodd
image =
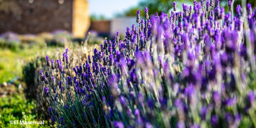
<svg viewBox="0 0 256 128"><path fill-rule="evenodd" d="M70 51L69 53L69 66L70 67L75 67L77 64L83 64L85 60L87 60L88 55L93 54L93 49L94 47L98 48L98 45L88 45L86 42L83 43L82 46L75 44L73 45L72 43L68 43L67 47ZM23 76L25 77L25 83L26 83L26 89L24 92L26 95L31 98L36 100L36 108L35 111L37 113L37 118L39 120L47 120L48 118L48 109L49 109L49 103L47 99L44 96L44 82L41 82L41 75L39 74L40 70L48 71L49 72L49 67L47 67L47 63L45 61L45 56L42 55L49 55L50 59L50 69L52 71L55 71L55 78L57 80L61 79L61 74L58 72L58 67L56 63L57 58L62 58L63 50L65 51L64 48L49 48L46 47L47 50L42 50L42 53L37 53L37 57L32 59L31 61L28 61L26 65L23 66ZM54 64L52 65L52 59L54 59ZM83 63L82 63L83 62ZM55 65L55 66L54 66ZM52 67L54 66L54 67ZM66 66L68 69L68 67ZM66 70L67 70L66 69ZM71 68L70 68L71 69ZM73 73L73 72L71 72ZM53 76L53 73L52 73ZM51 88L53 87L52 82L50 82ZM55 84L56 85L56 84ZM35 93L36 92L36 93Z"/></svg>

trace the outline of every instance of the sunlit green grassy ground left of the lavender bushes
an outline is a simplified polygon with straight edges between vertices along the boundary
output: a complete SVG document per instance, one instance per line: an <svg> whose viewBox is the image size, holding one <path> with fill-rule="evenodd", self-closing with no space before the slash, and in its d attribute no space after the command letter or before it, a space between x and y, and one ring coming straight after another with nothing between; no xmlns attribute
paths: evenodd
<svg viewBox="0 0 256 128"><path fill-rule="evenodd" d="M34 58L39 52L36 47L23 48L18 50L0 49L0 84L8 82L18 76L20 80L16 84L0 86L0 128L14 128L22 125L10 124L11 120L20 121L22 112L28 116L27 121L36 120L36 107L34 100L25 98L23 89L18 90L17 82L23 79L22 65L25 61ZM22 82L21 82L22 83ZM30 125L38 127L39 125Z"/></svg>

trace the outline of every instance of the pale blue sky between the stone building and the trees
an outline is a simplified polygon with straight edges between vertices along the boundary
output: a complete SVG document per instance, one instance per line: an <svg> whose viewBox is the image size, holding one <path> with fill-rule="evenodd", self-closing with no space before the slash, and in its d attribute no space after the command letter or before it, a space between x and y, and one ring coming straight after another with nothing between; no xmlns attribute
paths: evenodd
<svg viewBox="0 0 256 128"><path fill-rule="evenodd" d="M110 19L117 13L124 12L138 5L141 0L88 0L90 14L104 15Z"/></svg>

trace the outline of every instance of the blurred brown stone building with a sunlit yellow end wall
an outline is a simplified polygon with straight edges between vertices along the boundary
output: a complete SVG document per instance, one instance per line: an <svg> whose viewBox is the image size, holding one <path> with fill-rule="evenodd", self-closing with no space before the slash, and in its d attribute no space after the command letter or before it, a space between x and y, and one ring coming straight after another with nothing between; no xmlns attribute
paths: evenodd
<svg viewBox="0 0 256 128"><path fill-rule="evenodd" d="M90 27L86 0L0 0L0 34L37 34L57 29L84 37Z"/></svg>

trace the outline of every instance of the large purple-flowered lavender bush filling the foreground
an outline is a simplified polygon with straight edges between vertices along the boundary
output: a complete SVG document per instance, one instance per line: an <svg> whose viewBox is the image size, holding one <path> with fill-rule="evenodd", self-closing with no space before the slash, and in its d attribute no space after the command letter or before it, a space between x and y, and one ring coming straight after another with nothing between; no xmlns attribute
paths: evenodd
<svg viewBox="0 0 256 128"><path fill-rule="evenodd" d="M256 127L256 12L238 5L234 17L229 0L225 15L216 3L176 12L174 2L170 16L150 18L145 8L145 19L138 11L123 41L117 32L72 69L68 49L57 61L46 56L49 75L40 74L52 125Z"/></svg>

